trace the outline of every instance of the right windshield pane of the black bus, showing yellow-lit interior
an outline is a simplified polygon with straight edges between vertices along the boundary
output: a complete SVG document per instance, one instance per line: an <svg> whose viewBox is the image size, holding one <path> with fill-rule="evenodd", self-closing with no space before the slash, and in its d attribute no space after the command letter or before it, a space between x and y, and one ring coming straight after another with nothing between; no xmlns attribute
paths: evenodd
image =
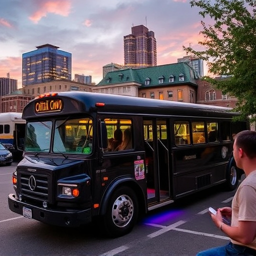
<svg viewBox="0 0 256 256"><path fill-rule="evenodd" d="M90 118L57 120L53 151L89 154L92 148L92 120Z"/></svg>

